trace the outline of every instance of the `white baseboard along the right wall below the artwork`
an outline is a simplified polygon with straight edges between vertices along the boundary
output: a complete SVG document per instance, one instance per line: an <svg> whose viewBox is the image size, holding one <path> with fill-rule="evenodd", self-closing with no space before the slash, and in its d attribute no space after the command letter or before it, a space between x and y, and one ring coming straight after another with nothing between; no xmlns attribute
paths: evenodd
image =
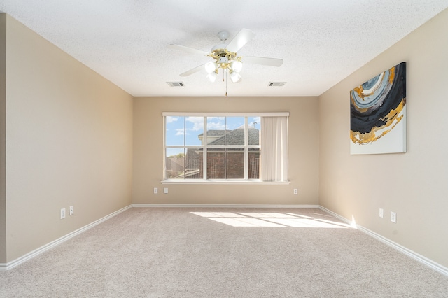
<svg viewBox="0 0 448 298"><path fill-rule="evenodd" d="M441 264L438 264L432 260L429 260L427 257L423 257L423 255L419 255L418 253L410 250L409 248L400 246L400 244L395 243L395 242L391 241L390 239L387 239L386 237L381 236L380 234L370 231L370 229L366 229L363 226L357 225L355 222L351 222L350 220L347 220L346 218L342 217L341 215L339 215L337 213L334 213L334 212L328 210L327 208L324 208L322 206L319 206L319 208L322 211L325 211L326 213L330 213L335 218L339 218L339 220L346 222L347 224L351 225L352 227L359 229L361 232L364 232L365 234L372 236L374 239L381 241L382 243L386 244L387 246L391 246L391 248L398 250L400 253L404 253L408 257L412 257L412 259L414 259L418 262L421 262L422 264L425 264L426 266L430 267L431 269L434 269L435 271L439 272L440 274L443 274L444 276L448 276L448 268L447 267L444 267Z"/></svg>

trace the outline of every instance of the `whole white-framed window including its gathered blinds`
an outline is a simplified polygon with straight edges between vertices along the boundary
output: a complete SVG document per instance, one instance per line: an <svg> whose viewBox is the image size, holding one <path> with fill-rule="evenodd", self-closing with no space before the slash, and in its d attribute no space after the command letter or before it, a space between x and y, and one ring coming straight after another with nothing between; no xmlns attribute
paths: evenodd
<svg viewBox="0 0 448 298"><path fill-rule="evenodd" d="M275 120L279 117L266 113L163 113L163 116L165 181L287 181L287 116L280 117L283 126L286 125L281 136L277 135L279 127ZM276 171L278 165L280 174Z"/></svg>

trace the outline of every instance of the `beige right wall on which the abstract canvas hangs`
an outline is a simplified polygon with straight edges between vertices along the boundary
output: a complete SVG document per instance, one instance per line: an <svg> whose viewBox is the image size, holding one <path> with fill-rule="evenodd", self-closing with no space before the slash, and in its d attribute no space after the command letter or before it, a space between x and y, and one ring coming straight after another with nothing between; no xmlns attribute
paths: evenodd
<svg viewBox="0 0 448 298"><path fill-rule="evenodd" d="M445 267L447 35L444 10L319 98L321 206ZM349 90L400 62L407 62L407 152L350 155Z"/></svg>

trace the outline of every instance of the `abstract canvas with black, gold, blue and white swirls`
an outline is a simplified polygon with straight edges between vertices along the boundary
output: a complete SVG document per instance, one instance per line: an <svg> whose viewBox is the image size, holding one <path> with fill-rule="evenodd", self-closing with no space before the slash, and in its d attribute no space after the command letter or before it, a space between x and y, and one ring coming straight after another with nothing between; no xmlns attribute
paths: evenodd
<svg viewBox="0 0 448 298"><path fill-rule="evenodd" d="M406 63L350 91L350 153L406 152Z"/></svg>

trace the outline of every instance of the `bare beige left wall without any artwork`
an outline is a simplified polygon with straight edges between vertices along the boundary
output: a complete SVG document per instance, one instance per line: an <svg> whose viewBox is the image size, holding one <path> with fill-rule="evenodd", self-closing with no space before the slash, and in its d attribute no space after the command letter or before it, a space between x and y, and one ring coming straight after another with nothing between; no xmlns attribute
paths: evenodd
<svg viewBox="0 0 448 298"><path fill-rule="evenodd" d="M133 98L6 19L6 260L0 262L130 205L132 193Z"/></svg>

